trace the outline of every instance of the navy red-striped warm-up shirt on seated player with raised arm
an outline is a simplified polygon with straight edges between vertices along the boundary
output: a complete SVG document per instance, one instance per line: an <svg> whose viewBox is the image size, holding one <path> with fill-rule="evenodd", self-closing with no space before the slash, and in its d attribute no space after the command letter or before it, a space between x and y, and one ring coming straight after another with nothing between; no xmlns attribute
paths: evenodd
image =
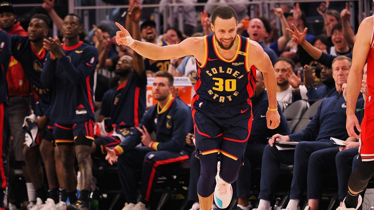
<svg viewBox="0 0 374 210"><path fill-rule="evenodd" d="M110 117L116 129L138 126L145 111L145 71L138 75L132 72L129 80L104 93L100 115Z"/></svg>

